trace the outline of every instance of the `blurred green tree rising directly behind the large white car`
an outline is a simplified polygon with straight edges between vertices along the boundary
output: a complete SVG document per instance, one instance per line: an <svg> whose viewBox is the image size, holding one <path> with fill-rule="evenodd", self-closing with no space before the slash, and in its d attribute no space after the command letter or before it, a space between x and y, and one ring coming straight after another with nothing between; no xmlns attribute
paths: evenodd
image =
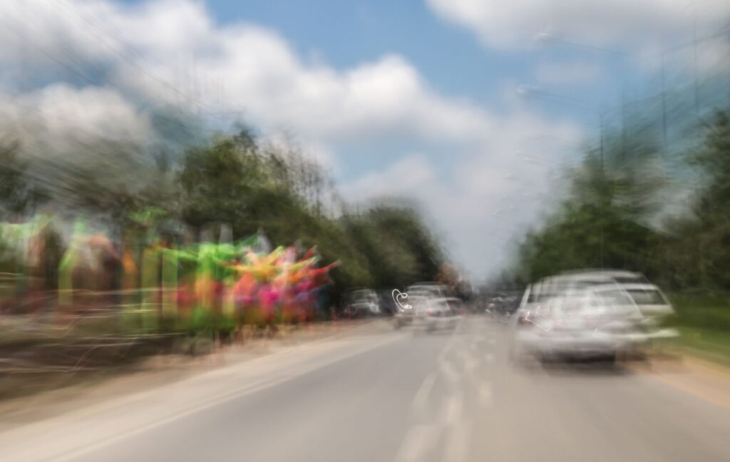
<svg viewBox="0 0 730 462"><path fill-rule="evenodd" d="M566 199L547 223L523 239L517 255L520 279L600 267L656 273L659 236L650 222L664 185L654 168L656 153L645 140L629 140L629 146L642 147L639 158L619 161L627 154L626 143L607 145L613 148L605 153L606 162L587 150L582 163L570 170Z"/></svg>

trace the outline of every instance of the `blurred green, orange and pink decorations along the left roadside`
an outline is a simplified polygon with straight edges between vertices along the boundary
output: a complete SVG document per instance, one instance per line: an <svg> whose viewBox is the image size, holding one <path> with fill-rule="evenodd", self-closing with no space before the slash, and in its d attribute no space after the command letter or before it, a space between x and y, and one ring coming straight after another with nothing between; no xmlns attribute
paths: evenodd
<svg viewBox="0 0 730 462"><path fill-rule="evenodd" d="M0 261L33 266L44 247L32 238L50 223L50 217L38 215L28 223L0 224ZM181 245L180 239L144 225L142 232L124 231L117 247L87 228L85 220L74 223L60 258L58 306L84 304L79 299L83 294L88 294L85 300L96 300L91 296L95 292L118 293L117 303L131 320L126 327L143 331L308 320L322 288L331 283L329 272L339 264L319 267L316 247L271 250L261 231L236 242L230 242L230 233L221 233L221 241L228 242Z"/></svg>

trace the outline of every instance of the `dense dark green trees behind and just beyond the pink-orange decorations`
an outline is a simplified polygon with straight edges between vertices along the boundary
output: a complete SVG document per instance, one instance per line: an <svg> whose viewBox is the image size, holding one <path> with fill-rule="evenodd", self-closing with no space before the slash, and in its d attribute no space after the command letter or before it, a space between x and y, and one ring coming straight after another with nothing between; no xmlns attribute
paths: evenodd
<svg viewBox="0 0 730 462"><path fill-rule="evenodd" d="M263 228L273 242L317 245L325 262L342 261L332 272L336 300L346 288L434 279L444 257L415 211L381 205L358 216L323 215L324 177L298 150L262 149L244 131L188 152L183 220L228 223L236 235Z"/></svg>

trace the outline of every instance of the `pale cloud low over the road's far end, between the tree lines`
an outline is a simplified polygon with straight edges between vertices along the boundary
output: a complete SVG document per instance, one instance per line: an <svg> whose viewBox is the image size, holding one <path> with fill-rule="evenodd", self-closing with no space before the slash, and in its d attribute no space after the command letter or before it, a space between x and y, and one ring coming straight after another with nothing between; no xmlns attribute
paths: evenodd
<svg viewBox="0 0 730 462"><path fill-rule="evenodd" d="M512 240L555 199L566 146L577 145L581 136L569 124L522 112L500 119L497 131L501 136L476 150L451 156L447 168L437 169L424 153L407 155L343 192L356 201L415 199L446 236L451 255L484 277L507 263Z"/></svg>

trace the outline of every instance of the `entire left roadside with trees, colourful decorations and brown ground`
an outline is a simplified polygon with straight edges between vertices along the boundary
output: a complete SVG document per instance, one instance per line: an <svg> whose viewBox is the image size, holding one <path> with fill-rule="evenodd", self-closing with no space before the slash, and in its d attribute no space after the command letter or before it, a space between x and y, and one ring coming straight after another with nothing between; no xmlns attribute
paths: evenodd
<svg viewBox="0 0 730 462"><path fill-rule="evenodd" d="M338 317L348 290L436 280L446 266L418 210L351 206L294 143L242 129L185 147L164 137L153 148L98 138L68 145L41 155L26 138L0 139L0 399L155 353L208 353ZM266 250L246 247L261 242ZM249 268L249 285L232 285L233 270L220 266L232 245L241 250L225 265ZM288 298L274 301L264 274L273 263L262 262L290 254L297 262L288 268L327 274L287 280L281 287L291 290L277 294ZM249 260L261 262L251 269ZM262 326L264 289L277 310Z"/></svg>

